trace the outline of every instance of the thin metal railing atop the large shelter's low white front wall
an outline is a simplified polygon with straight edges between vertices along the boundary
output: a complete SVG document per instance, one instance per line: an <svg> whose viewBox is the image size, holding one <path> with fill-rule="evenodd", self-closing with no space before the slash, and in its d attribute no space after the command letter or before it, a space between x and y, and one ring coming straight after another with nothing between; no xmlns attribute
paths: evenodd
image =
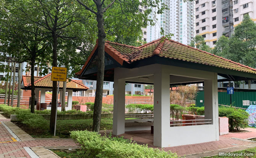
<svg viewBox="0 0 256 158"><path fill-rule="evenodd" d="M191 123L179 123L179 122L186 122L186 121L192 121ZM198 122L199 121L199 122ZM171 121L170 126L176 126L176 125L203 125L203 124L211 124L212 119L200 119L200 120L175 120Z"/></svg>

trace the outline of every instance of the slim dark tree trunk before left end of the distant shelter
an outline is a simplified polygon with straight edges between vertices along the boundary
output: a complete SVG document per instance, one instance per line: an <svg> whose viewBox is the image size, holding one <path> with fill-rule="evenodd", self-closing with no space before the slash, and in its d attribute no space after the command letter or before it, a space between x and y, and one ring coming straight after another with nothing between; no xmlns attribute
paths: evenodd
<svg viewBox="0 0 256 158"><path fill-rule="evenodd" d="M33 53L35 54L35 53ZM35 113L35 80L34 80L34 72L35 72L35 57L32 57L31 60L31 108L30 112Z"/></svg>

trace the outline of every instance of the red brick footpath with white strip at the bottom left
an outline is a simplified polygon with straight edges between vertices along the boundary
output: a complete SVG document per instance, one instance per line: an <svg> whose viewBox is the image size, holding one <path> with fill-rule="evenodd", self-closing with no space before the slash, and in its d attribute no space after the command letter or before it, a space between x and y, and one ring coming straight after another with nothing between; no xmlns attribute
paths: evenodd
<svg viewBox="0 0 256 158"><path fill-rule="evenodd" d="M58 158L46 148L78 148L71 139L34 139L0 114L0 158Z"/></svg>

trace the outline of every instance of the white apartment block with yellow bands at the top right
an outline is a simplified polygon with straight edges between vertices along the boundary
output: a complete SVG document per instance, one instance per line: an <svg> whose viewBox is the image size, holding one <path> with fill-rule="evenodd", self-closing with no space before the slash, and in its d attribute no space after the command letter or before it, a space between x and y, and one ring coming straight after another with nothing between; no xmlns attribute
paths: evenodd
<svg viewBox="0 0 256 158"><path fill-rule="evenodd" d="M196 0L196 35L211 48L220 36L231 37L243 16L256 17L256 0ZM254 20L255 21L255 20Z"/></svg>

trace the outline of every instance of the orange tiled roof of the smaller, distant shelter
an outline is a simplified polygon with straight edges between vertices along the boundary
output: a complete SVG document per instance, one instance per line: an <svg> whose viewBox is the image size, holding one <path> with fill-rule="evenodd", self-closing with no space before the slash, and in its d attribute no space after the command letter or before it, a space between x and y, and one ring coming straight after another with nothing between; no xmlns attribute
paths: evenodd
<svg viewBox="0 0 256 158"><path fill-rule="evenodd" d="M49 73L48 75L44 76L44 77L40 77L40 78L37 78L37 80L35 79L35 87L45 87L45 88L52 88L52 80L51 80L51 75L52 73ZM30 79L31 77L30 76L23 76L24 78L28 78ZM36 77L35 77L36 78ZM28 82L26 80L26 82ZM83 81L82 80L72 80L67 78L67 84L66 84L66 88L67 89L84 89L84 90L87 90L89 89L87 86L85 86L83 84ZM25 82L24 82L24 86L25 87L29 87L31 86L31 83L29 81L29 84L26 83L25 85ZM63 82L60 82L60 88L63 88Z"/></svg>

